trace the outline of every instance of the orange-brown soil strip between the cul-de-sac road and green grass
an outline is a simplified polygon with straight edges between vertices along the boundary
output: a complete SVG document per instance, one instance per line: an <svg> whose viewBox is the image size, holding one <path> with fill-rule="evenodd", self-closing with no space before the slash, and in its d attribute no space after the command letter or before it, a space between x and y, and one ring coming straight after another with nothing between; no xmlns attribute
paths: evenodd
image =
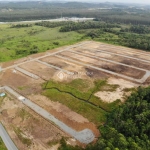
<svg viewBox="0 0 150 150"><path fill-rule="evenodd" d="M88 128L91 129L96 136L99 136L99 131L93 123L89 122L88 119L84 118L80 114L77 114L63 104L53 102L40 94L30 95L29 98L76 131L81 131Z"/></svg>

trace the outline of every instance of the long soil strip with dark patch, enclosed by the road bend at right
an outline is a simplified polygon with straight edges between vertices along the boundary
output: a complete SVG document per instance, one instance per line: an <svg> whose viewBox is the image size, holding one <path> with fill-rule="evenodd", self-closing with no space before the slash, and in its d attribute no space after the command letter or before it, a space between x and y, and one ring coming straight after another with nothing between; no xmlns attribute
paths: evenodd
<svg viewBox="0 0 150 150"><path fill-rule="evenodd" d="M100 68L110 70L112 72L127 75L129 77L134 77L136 79L141 79L143 77L143 75L145 74L145 71L137 70L137 69L122 66L122 65L115 65L112 63L108 63L106 61L96 60L94 58L90 58L87 56L81 56L79 54L74 54L71 52L63 52L63 53L61 53L61 55L67 56L69 58L72 58L72 59L75 59L78 61L82 61L82 62L85 62L88 64L92 64L94 66L98 66Z"/></svg>

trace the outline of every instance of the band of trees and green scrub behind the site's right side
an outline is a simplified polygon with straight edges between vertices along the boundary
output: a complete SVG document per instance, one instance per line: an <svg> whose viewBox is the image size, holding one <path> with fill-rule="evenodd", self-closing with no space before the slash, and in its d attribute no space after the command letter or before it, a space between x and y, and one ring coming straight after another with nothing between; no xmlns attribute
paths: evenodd
<svg viewBox="0 0 150 150"><path fill-rule="evenodd" d="M95 19L94 19L95 20ZM126 25L104 21L87 22L38 22L37 26L48 28L60 27L60 32L76 31L83 34L83 38L108 42L131 48L150 51L150 27L148 25Z"/></svg>

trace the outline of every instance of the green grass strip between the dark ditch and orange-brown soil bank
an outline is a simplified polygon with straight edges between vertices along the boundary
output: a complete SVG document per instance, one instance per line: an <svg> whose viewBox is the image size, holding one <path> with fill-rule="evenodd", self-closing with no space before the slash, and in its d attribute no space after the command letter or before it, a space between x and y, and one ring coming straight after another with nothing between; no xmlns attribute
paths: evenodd
<svg viewBox="0 0 150 150"><path fill-rule="evenodd" d="M50 98L50 100L53 101L58 101L67 107L71 108L73 111L83 115L84 117L88 118L90 121L94 123L99 123L99 122L105 122L106 121L106 112L94 107L90 104L87 104L83 101L79 101L78 99L65 94L58 92L54 89L52 90L46 90L43 93L47 97Z"/></svg>

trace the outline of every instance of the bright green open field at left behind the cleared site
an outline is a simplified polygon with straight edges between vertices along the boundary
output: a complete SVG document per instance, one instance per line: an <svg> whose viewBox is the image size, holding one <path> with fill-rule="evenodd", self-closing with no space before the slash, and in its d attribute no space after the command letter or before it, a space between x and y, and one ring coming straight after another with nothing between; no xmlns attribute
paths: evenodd
<svg viewBox="0 0 150 150"><path fill-rule="evenodd" d="M0 62L21 58L29 54L44 52L63 45L81 41L82 34L61 33L59 28L41 26L11 28L0 25Z"/></svg>

